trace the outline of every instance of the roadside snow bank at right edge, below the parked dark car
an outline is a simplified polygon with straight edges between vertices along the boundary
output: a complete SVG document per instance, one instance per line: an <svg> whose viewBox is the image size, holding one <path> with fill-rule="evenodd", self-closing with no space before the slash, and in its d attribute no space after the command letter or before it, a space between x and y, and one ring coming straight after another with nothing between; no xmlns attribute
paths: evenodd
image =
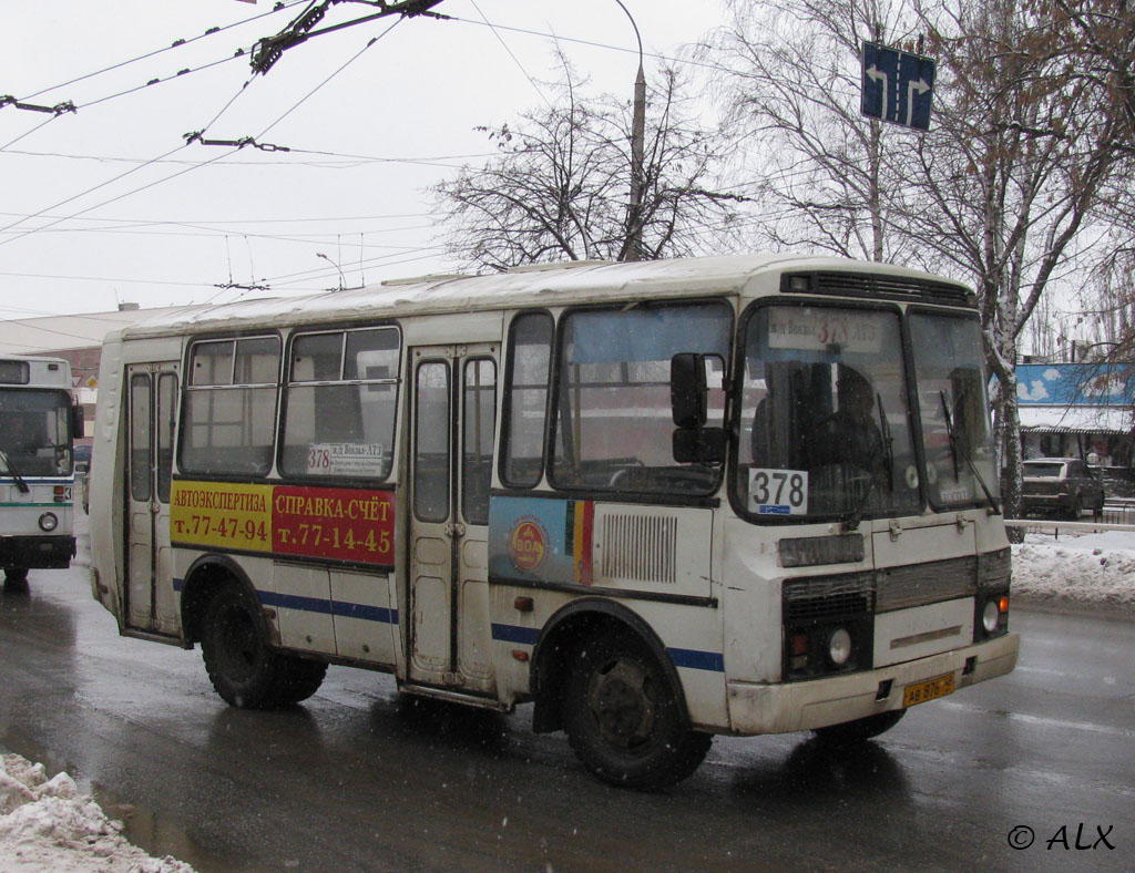
<svg viewBox="0 0 1135 873"><path fill-rule="evenodd" d="M1027 534L1012 546L1012 593L1026 602L1135 612L1135 533Z"/></svg>

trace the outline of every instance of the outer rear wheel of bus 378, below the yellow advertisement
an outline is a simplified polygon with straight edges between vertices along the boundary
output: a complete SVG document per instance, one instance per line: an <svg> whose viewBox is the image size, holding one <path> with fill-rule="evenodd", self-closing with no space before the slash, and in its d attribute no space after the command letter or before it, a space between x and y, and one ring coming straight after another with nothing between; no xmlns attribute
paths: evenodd
<svg viewBox="0 0 1135 873"><path fill-rule="evenodd" d="M243 586L225 585L210 599L201 654L213 688L230 705L246 710L280 705L286 667L268 646L260 602Z"/></svg>

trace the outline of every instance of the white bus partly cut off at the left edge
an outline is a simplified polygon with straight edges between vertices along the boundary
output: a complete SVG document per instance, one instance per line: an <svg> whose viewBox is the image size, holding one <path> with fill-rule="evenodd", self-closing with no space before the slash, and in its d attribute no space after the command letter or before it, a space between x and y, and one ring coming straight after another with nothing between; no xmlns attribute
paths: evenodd
<svg viewBox="0 0 1135 873"><path fill-rule="evenodd" d="M0 355L0 566L5 585L75 556L74 440L83 407L61 358Z"/></svg>

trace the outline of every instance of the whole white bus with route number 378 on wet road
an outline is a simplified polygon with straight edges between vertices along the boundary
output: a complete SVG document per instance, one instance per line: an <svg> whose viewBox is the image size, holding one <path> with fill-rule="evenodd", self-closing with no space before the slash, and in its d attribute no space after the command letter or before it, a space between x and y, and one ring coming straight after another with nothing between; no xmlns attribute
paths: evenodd
<svg viewBox="0 0 1135 873"><path fill-rule="evenodd" d="M657 787L714 734L865 738L1016 662L975 298L940 278L423 278L124 328L99 387L95 596L236 706L384 670Z"/></svg>

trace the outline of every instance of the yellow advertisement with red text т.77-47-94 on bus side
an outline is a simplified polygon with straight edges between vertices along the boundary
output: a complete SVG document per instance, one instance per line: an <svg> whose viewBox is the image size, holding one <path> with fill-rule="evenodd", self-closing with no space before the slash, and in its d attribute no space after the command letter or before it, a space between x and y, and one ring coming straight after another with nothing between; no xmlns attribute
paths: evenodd
<svg viewBox="0 0 1135 873"><path fill-rule="evenodd" d="M185 545L270 552L271 498L271 485L175 481L171 539Z"/></svg>

